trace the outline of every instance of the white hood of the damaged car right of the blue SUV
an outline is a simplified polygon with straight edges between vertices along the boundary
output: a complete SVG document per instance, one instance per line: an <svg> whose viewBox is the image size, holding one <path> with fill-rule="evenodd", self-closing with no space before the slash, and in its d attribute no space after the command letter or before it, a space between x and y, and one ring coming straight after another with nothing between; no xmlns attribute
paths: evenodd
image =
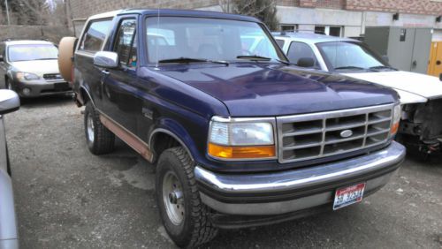
<svg viewBox="0 0 442 249"><path fill-rule="evenodd" d="M430 75L405 71L345 73L344 75L392 87L398 90L402 103L426 102L426 99L442 97L442 82Z"/></svg>

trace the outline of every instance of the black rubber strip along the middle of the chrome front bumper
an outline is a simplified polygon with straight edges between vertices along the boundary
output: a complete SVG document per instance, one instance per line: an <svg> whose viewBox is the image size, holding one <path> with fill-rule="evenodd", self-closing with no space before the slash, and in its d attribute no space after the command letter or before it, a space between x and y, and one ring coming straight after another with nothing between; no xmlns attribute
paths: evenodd
<svg viewBox="0 0 442 249"><path fill-rule="evenodd" d="M294 200L320 192L334 191L336 188L342 186L366 182L370 179L381 177L394 170L397 170L400 167L400 163L403 162L403 160L404 159L384 169L371 171L362 174L358 177L351 177L346 180L339 180L339 181L325 183L322 185L310 186L295 191L290 190L285 192L256 192L256 193L227 194L225 192L219 192L211 188L209 185L202 184L201 182L198 182L198 189L204 194L208 195L210 198L224 203L263 203L263 202L265 203L265 202L275 202L275 201L284 201L284 200Z"/></svg>

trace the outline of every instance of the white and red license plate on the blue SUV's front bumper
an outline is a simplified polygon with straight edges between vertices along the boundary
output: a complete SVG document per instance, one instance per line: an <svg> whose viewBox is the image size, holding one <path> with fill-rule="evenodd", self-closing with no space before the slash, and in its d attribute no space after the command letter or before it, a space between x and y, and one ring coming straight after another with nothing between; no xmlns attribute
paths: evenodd
<svg viewBox="0 0 442 249"><path fill-rule="evenodd" d="M333 210L361 202L364 189L365 183L337 189L334 194Z"/></svg>

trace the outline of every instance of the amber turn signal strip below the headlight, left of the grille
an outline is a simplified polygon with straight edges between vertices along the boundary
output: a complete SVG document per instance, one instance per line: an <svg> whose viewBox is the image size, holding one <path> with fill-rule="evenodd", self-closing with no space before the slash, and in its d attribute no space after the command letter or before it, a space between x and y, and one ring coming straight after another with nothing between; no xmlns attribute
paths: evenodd
<svg viewBox="0 0 442 249"><path fill-rule="evenodd" d="M274 157L275 146L220 146L209 143L209 155L223 159L255 159Z"/></svg>

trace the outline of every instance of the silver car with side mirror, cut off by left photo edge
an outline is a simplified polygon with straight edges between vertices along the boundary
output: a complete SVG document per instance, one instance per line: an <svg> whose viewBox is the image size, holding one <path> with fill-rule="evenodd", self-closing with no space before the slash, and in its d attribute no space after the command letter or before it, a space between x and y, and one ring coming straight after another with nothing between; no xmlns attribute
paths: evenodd
<svg viewBox="0 0 442 249"><path fill-rule="evenodd" d="M11 90L0 90L0 249L19 248L17 220L12 193L11 165L4 134L3 115L19 109L19 96Z"/></svg>

